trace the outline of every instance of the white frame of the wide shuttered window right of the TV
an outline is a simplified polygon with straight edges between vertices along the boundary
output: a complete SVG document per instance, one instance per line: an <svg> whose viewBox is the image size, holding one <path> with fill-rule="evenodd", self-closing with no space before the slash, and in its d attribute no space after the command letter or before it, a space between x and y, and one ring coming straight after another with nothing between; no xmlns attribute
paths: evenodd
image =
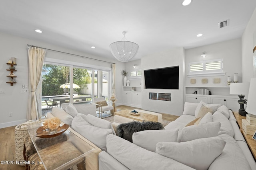
<svg viewBox="0 0 256 170"><path fill-rule="evenodd" d="M206 70L206 64L212 62L220 62L220 69L218 70ZM202 70L191 72L190 66L194 64L202 64ZM223 76L225 72L223 72L223 59L214 59L214 60L206 60L206 61L199 61L188 63L188 77L196 77L196 76Z"/></svg>

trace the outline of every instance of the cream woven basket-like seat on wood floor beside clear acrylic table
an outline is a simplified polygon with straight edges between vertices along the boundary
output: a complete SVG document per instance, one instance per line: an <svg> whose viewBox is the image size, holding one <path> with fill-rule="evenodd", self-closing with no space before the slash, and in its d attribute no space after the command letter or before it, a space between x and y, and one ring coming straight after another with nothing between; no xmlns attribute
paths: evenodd
<svg viewBox="0 0 256 170"><path fill-rule="evenodd" d="M15 127L15 153L16 161L24 161L23 150L24 150L24 139L29 135L27 125L32 125L35 123L41 123L42 120L27 121ZM20 164L25 166L25 164Z"/></svg>

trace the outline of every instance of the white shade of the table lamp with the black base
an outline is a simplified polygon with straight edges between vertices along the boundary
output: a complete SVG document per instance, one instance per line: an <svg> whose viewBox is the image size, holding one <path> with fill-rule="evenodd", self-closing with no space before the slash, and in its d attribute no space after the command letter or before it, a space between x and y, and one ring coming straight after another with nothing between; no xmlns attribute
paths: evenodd
<svg viewBox="0 0 256 170"><path fill-rule="evenodd" d="M230 94L237 94L237 95L247 95L249 91L250 83L231 83L230 84Z"/></svg>

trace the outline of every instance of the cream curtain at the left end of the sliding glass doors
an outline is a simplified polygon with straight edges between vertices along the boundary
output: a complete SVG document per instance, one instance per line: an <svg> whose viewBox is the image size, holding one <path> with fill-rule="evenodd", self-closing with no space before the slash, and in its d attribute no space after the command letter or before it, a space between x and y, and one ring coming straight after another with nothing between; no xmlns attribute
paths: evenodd
<svg viewBox="0 0 256 170"><path fill-rule="evenodd" d="M38 101L36 89L41 79L44 64L45 49L38 47L28 47L28 80L29 80L29 100L27 120L39 119ZM41 104L41 102L39 103Z"/></svg>

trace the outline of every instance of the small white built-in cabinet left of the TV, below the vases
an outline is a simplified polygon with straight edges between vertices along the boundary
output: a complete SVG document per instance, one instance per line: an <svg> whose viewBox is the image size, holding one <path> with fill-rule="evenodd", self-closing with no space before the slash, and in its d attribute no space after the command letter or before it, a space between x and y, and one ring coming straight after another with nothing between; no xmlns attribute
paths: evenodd
<svg viewBox="0 0 256 170"><path fill-rule="evenodd" d="M122 93L124 105L141 108L141 86L123 86Z"/></svg>

